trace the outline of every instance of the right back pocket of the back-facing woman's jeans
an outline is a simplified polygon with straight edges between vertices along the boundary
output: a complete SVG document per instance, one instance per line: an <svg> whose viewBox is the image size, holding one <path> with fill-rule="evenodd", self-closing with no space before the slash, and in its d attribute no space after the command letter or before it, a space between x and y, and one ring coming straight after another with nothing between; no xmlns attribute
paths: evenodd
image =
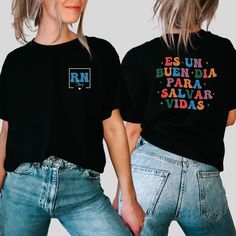
<svg viewBox="0 0 236 236"><path fill-rule="evenodd" d="M228 209L219 171L197 173L201 216L209 221L220 220Z"/></svg>

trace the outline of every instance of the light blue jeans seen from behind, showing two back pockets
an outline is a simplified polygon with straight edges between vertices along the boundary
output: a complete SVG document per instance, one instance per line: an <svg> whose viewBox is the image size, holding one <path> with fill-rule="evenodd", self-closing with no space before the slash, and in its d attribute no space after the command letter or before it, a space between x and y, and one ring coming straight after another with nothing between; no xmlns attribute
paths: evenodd
<svg viewBox="0 0 236 236"><path fill-rule="evenodd" d="M215 167L167 152L142 138L131 162L137 198L146 213L141 235L166 236L173 220L188 236L236 235Z"/></svg>

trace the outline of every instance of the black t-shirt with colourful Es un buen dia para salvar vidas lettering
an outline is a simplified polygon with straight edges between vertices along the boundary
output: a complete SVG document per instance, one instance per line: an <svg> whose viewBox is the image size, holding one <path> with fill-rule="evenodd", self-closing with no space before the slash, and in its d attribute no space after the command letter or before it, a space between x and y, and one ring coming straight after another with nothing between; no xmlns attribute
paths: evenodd
<svg viewBox="0 0 236 236"><path fill-rule="evenodd" d="M153 145L223 170L227 116L236 108L236 52L210 32L191 37L187 53L168 49L162 38L127 53L122 116L141 123L141 136Z"/></svg>

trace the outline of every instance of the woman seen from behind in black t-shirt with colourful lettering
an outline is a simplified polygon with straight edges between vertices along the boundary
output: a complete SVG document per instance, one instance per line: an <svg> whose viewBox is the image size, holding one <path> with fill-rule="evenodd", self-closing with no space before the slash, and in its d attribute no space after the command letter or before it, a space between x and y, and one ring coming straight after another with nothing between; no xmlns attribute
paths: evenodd
<svg viewBox="0 0 236 236"><path fill-rule="evenodd" d="M201 29L217 6L156 0L163 36L122 62L121 113L146 213L141 235L167 235L173 220L190 236L236 235L219 173L225 127L236 119L236 53L228 39Z"/></svg>

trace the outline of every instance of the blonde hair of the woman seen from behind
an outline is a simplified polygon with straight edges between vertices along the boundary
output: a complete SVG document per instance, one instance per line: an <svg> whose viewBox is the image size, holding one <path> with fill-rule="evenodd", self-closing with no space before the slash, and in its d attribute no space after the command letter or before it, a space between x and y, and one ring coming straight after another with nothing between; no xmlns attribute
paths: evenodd
<svg viewBox="0 0 236 236"><path fill-rule="evenodd" d="M156 0L154 17L162 23L163 40L169 48L175 48L173 30L179 30L177 49L193 46L191 33L196 25L209 25L215 15L219 0Z"/></svg>

